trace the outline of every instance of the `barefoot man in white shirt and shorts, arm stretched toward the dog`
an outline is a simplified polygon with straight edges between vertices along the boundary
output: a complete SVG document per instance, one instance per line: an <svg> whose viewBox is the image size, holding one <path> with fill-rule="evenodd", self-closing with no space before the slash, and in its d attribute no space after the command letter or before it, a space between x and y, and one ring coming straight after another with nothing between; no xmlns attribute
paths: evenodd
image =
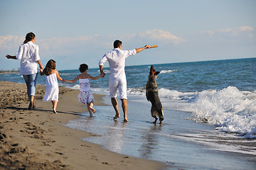
<svg viewBox="0 0 256 170"><path fill-rule="evenodd" d="M142 50L149 48L149 45L145 45L144 47L136 48L134 50L122 50L122 41L115 40L114 41L114 49L111 52L107 52L103 55L102 59L99 62L100 74L104 74L103 72L103 64L105 62L109 62L110 64L110 98L112 105L114 107L114 111L116 115L114 119L120 117L118 102L117 102L117 89L119 90L120 99L122 101L122 110L124 112L124 122L128 122L127 120L127 80L124 72L125 66L125 58L130 55L136 55Z"/></svg>

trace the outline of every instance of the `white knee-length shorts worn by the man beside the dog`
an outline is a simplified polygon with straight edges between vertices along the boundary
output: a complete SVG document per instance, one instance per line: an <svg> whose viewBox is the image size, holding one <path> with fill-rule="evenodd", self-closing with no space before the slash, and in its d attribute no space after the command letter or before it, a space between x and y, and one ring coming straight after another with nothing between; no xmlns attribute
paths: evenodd
<svg viewBox="0 0 256 170"><path fill-rule="evenodd" d="M117 97L117 89L120 94L120 99L127 99L127 80L126 79L117 79L110 80L110 98Z"/></svg>

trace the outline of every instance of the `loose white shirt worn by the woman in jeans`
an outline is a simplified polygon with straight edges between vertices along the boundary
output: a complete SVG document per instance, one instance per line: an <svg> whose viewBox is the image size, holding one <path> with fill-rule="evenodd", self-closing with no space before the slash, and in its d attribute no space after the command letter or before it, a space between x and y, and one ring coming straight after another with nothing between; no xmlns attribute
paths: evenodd
<svg viewBox="0 0 256 170"><path fill-rule="evenodd" d="M28 41L26 44L20 45L16 59L21 59L20 73L22 75L35 74L38 72L38 64L36 61L40 60L38 45Z"/></svg>

